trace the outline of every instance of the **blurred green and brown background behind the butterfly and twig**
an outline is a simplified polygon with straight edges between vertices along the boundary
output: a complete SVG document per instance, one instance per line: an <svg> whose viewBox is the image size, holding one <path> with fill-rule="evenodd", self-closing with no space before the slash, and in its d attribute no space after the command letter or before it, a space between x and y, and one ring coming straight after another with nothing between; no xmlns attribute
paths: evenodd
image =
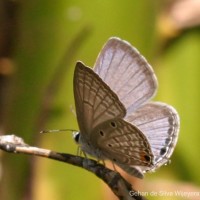
<svg viewBox="0 0 200 200"><path fill-rule="evenodd" d="M184 11L186 16L190 8L188 4L174 11L176 3L2 0L0 134L13 133L31 145L76 154L71 133L41 135L39 131L78 129L71 111L75 63L82 60L93 66L102 45L118 36L151 63L159 81L155 99L173 105L181 118L172 163L142 181L131 180L134 187L149 194L200 191L200 28L198 20L176 20L175 12ZM192 12L189 17L199 16ZM0 159L0 199L111 199L104 183L83 169L2 152ZM147 198L172 199L166 196L160 193ZM173 196L195 198L200 199L200 194Z"/></svg>

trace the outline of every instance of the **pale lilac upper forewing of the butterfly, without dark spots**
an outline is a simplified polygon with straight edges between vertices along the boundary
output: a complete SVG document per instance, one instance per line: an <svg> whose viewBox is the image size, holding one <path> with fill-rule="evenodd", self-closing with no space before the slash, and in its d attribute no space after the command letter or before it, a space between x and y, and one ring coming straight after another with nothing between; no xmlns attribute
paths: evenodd
<svg viewBox="0 0 200 200"><path fill-rule="evenodd" d="M151 99L157 79L146 59L128 42L110 38L101 50L94 71L118 95L132 113Z"/></svg>

